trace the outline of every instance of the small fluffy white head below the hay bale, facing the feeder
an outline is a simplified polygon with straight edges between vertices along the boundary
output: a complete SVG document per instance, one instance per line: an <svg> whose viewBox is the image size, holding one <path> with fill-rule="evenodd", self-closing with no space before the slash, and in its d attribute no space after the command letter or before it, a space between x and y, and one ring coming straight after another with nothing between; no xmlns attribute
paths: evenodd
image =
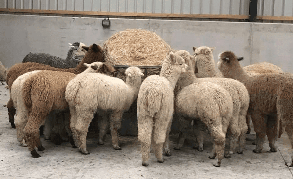
<svg viewBox="0 0 293 179"><path fill-rule="evenodd" d="M141 84L141 77L144 74L140 71L140 69L136 66L130 66L125 70L126 75L126 84L132 84L133 86L140 86Z"/></svg>

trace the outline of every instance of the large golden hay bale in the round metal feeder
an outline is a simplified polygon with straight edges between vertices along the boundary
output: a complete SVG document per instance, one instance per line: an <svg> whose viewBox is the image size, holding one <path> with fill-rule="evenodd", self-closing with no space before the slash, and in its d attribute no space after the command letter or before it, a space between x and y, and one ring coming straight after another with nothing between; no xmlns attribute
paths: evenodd
<svg viewBox="0 0 293 179"><path fill-rule="evenodd" d="M103 43L105 62L113 65L161 65L174 51L156 33L143 29L126 29Z"/></svg>

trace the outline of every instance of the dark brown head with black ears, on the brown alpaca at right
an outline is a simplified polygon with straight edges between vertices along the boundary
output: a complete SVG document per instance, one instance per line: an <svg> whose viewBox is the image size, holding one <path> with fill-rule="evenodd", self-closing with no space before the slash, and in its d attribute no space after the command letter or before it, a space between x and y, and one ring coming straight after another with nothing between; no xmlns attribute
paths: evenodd
<svg viewBox="0 0 293 179"><path fill-rule="evenodd" d="M241 67L239 61L243 60L243 57L237 57L231 51L225 51L219 54L218 68L223 72L229 72L230 70L235 70Z"/></svg>

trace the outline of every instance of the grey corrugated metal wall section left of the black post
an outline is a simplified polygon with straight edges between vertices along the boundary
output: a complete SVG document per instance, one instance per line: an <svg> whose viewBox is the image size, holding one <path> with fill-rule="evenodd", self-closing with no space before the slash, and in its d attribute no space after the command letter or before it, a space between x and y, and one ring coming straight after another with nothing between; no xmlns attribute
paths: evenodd
<svg viewBox="0 0 293 179"><path fill-rule="evenodd" d="M248 15L249 0L0 0L0 8Z"/></svg>

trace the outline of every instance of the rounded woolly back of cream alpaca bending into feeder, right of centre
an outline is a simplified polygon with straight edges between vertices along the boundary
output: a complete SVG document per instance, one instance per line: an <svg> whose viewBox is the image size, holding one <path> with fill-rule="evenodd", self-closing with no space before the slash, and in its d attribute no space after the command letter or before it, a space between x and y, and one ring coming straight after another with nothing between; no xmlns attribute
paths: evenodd
<svg viewBox="0 0 293 179"><path fill-rule="evenodd" d="M194 118L215 119L221 116L230 120L233 101L228 91L217 84L194 83L177 95L176 111Z"/></svg>

